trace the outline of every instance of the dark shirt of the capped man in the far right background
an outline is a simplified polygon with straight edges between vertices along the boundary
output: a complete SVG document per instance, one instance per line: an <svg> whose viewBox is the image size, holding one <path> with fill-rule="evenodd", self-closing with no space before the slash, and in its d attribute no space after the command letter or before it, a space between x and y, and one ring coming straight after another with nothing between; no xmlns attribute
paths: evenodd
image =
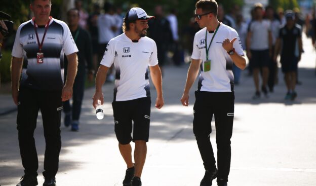
<svg viewBox="0 0 316 186"><path fill-rule="evenodd" d="M279 38L282 40L281 59L290 60L299 56L298 39L302 37L302 27L295 24L292 29L285 25L280 29Z"/></svg>

